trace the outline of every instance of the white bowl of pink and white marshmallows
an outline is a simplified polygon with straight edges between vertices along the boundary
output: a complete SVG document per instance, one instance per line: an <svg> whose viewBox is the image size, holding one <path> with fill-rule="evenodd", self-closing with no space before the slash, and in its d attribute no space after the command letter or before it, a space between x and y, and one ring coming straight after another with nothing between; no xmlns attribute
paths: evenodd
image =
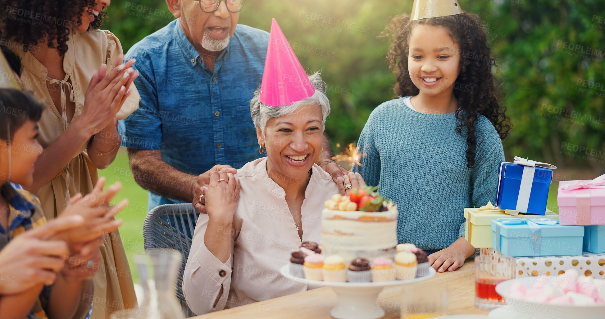
<svg viewBox="0 0 605 319"><path fill-rule="evenodd" d="M506 306L494 309L490 318L515 319L605 317L605 280L578 276L569 269L556 277L523 277L503 281L496 292Z"/></svg>

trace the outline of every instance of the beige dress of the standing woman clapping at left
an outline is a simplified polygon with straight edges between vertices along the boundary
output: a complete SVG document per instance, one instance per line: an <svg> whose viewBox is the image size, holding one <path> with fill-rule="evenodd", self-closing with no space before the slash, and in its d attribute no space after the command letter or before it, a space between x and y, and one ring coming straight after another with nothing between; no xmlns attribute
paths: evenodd
<svg viewBox="0 0 605 319"><path fill-rule="evenodd" d="M111 68L113 62L123 53L120 41L110 31L90 30L84 33L75 31L67 42L63 69L65 79L57 80L48 77L48 71L30 52L17 50L21 56L23 70L21 82L25 90L32 91L34 96L47 106L39 121L40 131L38 141L47 148L82 114L84 96L93 71L99 70L105 63ZM108 70L109 71L109 70ZM67 99L76 104L71 122L67 121L65 113L60 113L48 93L48 84L59 84L61 90L61 110L65 110ZM53 86L54 87L54 86ZM52 87L51 87L52 88ZM117 113L117 119L125 119L139 107L139 92L132 84L132 91ZM94 107L94 105L91 105ZM63 173L46 183L36 192L42 209L48 220L54 219L62 212L70 197L78 192L87 194L93 191L97 182L97 168L87 154L87 144L80 145L76 157L65 166ZM105 241L100 246L102 261L94 277L94 295L88 296L93 301L94 319L110 318L111 312L120 309L136 307L137 299L130 275L128 260L118 231L105 235ZM88 309L84 309L88 311Z"/></svg>

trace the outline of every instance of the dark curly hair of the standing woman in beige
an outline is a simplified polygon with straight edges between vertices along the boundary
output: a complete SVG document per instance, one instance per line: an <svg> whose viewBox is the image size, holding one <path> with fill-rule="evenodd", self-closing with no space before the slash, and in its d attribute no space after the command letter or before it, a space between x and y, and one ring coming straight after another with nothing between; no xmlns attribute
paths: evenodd
<svg viewBox="0 0 605 319"><path fill-rule="evenodd" d="M96 0L0 0L0 8L6 8L0 16L0 35L24 51L47 39L48 47L56 48L62 56L67 52L70 33L82 23L85 8L96 6ZM88 30L99 28L105 15L99 13Z"/></svg>

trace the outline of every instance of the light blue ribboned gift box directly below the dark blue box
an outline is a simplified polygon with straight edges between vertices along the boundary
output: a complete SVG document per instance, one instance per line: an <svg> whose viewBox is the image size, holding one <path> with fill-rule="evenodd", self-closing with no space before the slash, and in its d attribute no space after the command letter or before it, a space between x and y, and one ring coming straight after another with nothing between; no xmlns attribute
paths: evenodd
<svg viewBox="0 0 605 319"><path fill-rule="evenodd" d="M491 221L492 248L511 257L582 254L584 226L563 226L549 218Z"/></svg>

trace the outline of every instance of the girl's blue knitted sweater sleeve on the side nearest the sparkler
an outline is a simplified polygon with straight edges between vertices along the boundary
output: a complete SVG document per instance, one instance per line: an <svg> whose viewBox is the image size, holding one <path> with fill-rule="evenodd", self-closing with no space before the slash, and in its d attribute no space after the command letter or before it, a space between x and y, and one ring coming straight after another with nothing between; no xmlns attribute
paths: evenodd
<svg viewBox="0 0 605 319"><path fill-rule="evenodd" d="M361 174L364 182L370 186L376 186L380 182L380 155L374 143L376 140L374 135L376 116L374 115L374 112L370 114L370 118L365 123L357 143L361 166L353 165L353 171Z"/></svg>

